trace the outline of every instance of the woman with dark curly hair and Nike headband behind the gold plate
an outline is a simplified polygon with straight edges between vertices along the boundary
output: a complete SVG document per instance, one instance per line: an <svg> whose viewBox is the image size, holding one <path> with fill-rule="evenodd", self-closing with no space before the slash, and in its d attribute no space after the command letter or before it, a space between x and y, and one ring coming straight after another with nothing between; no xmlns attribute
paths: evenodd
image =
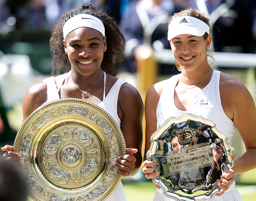
<svg viewBox="0 0 256 201"><path fill-rule="evenodd" d="M123 177L137 174L142 162L143 102L134 87L123 79L112 76L115 73L115 64L117 61L122 61L125 50L125 39L118 25L109 15L96 9L91 3L84 3L80 8L62 14L52 30L50 49L53 53L53 73L59 75L47 78L28 90L22 104L23 122L34 110L51 101L76 98L91 102L105 110L115 120L125 139L126 154L117 155L116 158L112 157L111 164L116 166ZM72 112L72 110L70 111ZM91 116L91 119L95 119L94 117L95 115ZM80 123L83 124L83 122ZM100 122L97 123L100 124ZM80 131L75 132L78 138ZM84 135L83 137L84 141L87 140L91 143L91 136ZM52 144L56 144L58 140L59 137L55 135L49 141L49 149L44 152L49 152L50 155ZM103 142L104 138L100 140ZM99 141L99 145L101 141ZM84 149L78 143L74 144L75 148ZM12 146L6 145L2 150L6 151L3 155L6 161L19 167L24 165L26 159L21 154L14 153ZM64 145L59 150L65 156L63 157L65 168L72 169L69 163L74 162L74 156L78 153L75 149L66 148ZM107 152L109 149L104 150ZM89 151L86 156L94 150ZM62 163L62 159L57 158L58 160ZM94 166L95 160L92 158L91 161L88 161L88 167ZM56 167L56 170L57 168L62 169L62 167ZM65 183L68 172L55 171L53 177L58 177L60 182ZM73 178L75 183L79 182L76 176ZM106 186L106 183L102 186ZM67 185L65 188L69 188L69 186ZM73 191L75 194L76 190ZM102 189L99 187L92 193L99 195L101 191ZM65 200L73 199L65 197L68 192L72 192L72 190L68 190L67 194L62 193L61 196ZM44 199L49 199L47 194L44 196ZM108 197L106 200L109 201L125 201L122 183L120 182L115 191L111 195L105 196L104 199L106 197ZM57 200L57 197L51 199ZM87 200L88 196L79 199ZM98 199L91 197L90 200Z"/></svg>

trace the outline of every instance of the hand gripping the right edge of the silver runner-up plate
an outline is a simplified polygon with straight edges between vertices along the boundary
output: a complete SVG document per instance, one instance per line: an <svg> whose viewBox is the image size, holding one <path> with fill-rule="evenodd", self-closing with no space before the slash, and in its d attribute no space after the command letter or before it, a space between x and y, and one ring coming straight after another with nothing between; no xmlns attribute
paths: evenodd
<svg viewBox="0 0 256 201"><path fill-rule="evenodd" d="M233 160L235 159L235 157L236 156L232 154ZM218 182L218 186L221 188L221 190L219 193L216 193L215 195L217 196L223 195L224 192L229 189L229 186L231 186L234 180L235 180L235 172L233 171L233 169L230 169L228 172L223 172Z"/></svg>

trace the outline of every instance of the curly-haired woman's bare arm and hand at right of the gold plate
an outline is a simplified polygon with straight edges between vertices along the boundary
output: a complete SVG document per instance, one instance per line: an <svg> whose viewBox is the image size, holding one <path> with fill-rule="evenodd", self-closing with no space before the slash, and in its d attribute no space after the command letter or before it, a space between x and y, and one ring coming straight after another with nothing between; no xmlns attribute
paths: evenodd
<svg viewBox="0 0 256 201"><path fill-rule="evenodd" d="M138 91L128 83L123 84L119 91L118 114L121 119L120 128L128 149L126 155L114 160L114 164L124 177L137 174L142 163L143 113L144 105Z"/></svg>

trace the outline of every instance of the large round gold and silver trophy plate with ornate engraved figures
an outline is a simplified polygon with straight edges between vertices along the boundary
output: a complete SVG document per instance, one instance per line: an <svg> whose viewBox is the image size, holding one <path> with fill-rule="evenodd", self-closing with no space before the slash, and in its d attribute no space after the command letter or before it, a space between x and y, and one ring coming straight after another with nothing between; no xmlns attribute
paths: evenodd
<svg viewBox="0 0 256 201"><path fill-rule="evenodd" d="M105 110L66 98L35 110L22 124L14 151L25 158L34 201L103 201L122 176L112 164L125 140Z"/></svg>

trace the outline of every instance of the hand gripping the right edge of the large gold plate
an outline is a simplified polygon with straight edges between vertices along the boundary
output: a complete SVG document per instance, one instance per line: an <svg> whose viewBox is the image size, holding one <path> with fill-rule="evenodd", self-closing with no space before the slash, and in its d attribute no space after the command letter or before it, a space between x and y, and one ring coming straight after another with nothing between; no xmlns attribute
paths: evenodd
<svg viewBox="0 0 256 201"><path fill-rule="evenodd" d="M137 153L137 151L137 149L128 148L126 149L126 155L121 155L113 160L113 164L123 177L129 176L135 167L136 158L132 154Z"/></svg>

